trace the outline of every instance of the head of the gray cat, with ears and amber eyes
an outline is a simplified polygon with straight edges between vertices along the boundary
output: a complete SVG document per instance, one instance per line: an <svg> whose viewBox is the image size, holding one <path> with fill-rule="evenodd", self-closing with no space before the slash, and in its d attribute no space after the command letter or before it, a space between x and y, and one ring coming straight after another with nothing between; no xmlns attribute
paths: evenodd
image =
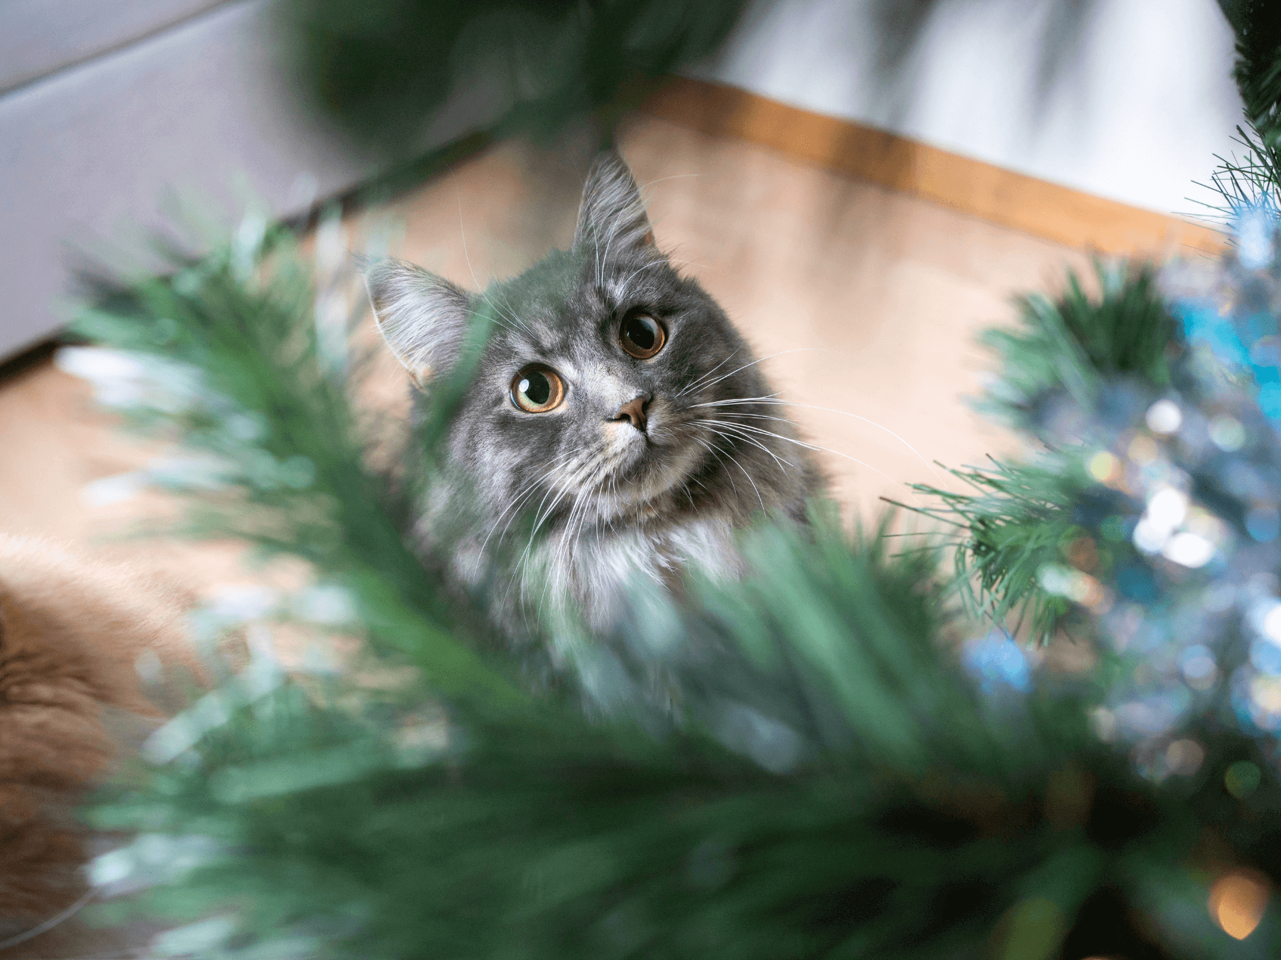
<svg viewBox="0 0 1281 960"><path fill-rule="evenodd" d="M592 168L573 247L520 276L469 293L387 260L366 282L383 337L424 390L492 317L450 451L496 511L611 520L675 493L693 503L690 484L724 453L725 430L705 422L712 404L763 390L724 311L655 246L614 152Z"/></svg>

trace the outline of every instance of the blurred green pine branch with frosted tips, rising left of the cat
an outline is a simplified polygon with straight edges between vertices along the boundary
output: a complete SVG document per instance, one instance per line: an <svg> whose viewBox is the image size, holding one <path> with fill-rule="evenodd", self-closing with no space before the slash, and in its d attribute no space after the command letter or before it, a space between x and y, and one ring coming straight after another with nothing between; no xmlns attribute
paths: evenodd
<svg viewBox="0 0 1281 960"><path fill-rule="evenodd" d="M359 364L342 372L310 321L311 271L292 236L240 236L257 239L199 260L170 251L165 276L96 282L97 300L73 328L149 364L147 390L159 396L133 410L135 426L205 458L193 477L170 479L199 494L179 532L296 556L350 589L375 644L429 669L441 690L478 704L521 700L503 668L459 639L483 635L483 618L447 598L409 547L412 483L371 466L386 438L369 435L352 406ZM455 393L441 392L424 452Z"/></svg>

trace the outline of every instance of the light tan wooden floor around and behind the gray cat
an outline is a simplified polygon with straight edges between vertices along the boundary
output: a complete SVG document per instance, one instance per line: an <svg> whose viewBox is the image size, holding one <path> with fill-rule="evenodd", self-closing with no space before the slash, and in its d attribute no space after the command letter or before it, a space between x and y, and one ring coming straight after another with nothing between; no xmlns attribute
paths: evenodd
<svg viewBox="0 0 1281 960"><path fill-rule="evenodd" d="M1082 252L648 116L621 142L660 246L770 357L783 397L808 404L792 412L829 451L852 517L874 516L881 497L910 497L903 483L936 480L929 462L1011 448L965 403L988 366L975 335L1009 321L1015 294L1085 269ZM389 236L402 256L474 288L567 243L585 163L583 151L500 146L352 215L345 242L359 250L366 236ZM388 366L393 393L397 375ZM115 541L161 500L104 504L86 484L156 451L120 436L51 364L0 384L0 530L99 544L199 570L202 581L236 576L228 548Z"/></svg>

